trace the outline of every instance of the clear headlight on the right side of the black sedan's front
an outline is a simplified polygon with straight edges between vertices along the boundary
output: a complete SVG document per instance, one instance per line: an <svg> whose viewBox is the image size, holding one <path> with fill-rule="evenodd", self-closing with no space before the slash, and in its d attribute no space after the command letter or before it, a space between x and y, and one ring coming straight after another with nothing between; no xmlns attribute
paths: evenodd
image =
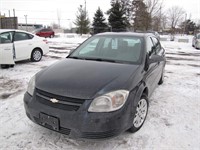
<svg viewBox="0 0 200 150"><path fill-rule="evenodd" d="M89 112L111 112L120 109L127 100L129 91L118 90L95 98Z"/></svg>

